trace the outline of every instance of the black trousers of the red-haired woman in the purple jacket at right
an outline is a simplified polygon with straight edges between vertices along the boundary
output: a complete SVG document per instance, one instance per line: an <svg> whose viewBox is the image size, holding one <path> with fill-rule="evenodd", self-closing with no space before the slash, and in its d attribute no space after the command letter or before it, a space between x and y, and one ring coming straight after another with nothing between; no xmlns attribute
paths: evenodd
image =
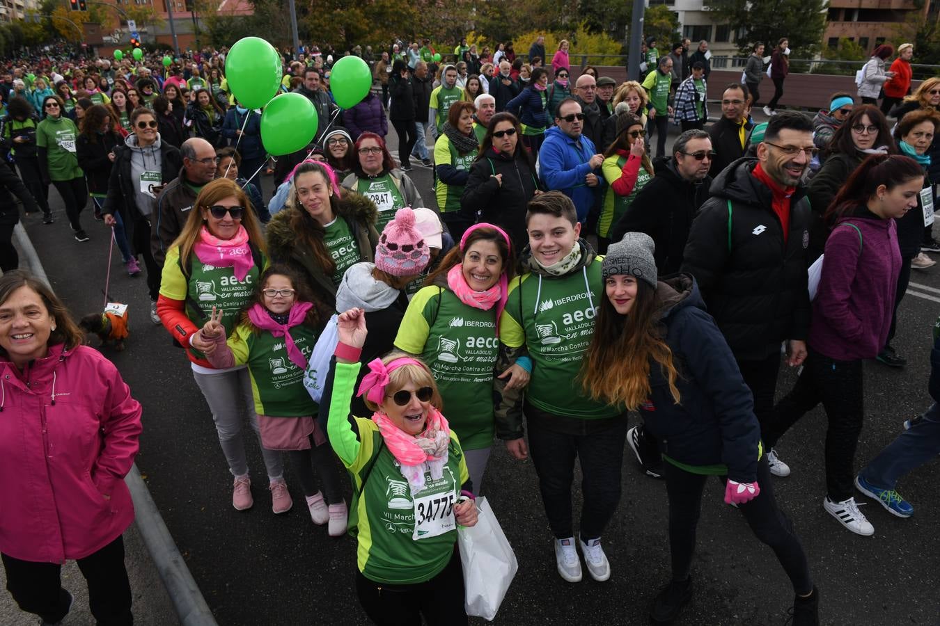
<svg viewBox="0 0 940 626"><path fill-rule="evenodd" d="M858 435L865 417L862 361L829 359L812 348L803 372L787 396L774 407L760 435L766 450L776 445L807 411L823 403L828 426L825 432L825 481L829 498L841 502L853 496L853 463Z"/></svg>

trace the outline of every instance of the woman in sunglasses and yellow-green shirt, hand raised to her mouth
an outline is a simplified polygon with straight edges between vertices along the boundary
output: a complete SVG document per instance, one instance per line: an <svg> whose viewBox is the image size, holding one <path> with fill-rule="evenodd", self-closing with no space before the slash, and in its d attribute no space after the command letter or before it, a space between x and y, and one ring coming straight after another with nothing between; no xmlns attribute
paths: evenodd
<svg viewBox="0 0 940 626"><path fill-rule="evenodd" d="M617 139L603 153L601 172L608 187L603 191L601 218L597 223L598 253L607 252L610 233L627 207L632 205L653 176L650 156L646 153L643 122L632 113L617 117Z"/></svg>

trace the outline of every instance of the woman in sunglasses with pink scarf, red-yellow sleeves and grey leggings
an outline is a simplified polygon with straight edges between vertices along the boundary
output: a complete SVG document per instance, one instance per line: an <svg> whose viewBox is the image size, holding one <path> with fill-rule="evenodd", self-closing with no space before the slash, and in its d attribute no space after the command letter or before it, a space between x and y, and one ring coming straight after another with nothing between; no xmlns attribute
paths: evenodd
<svg viewBox="0 0 940 626"><path fill-rule="evenodd" d="M164 328L186 348L196 385L209 404L219 445L234 477L232 506L244 511L254 505L242 437L246 413L268 470L272 510L283 513L293 504L284 481L284 463L280 452L267 450L260 440L248 371L244 365L223 370L212 367L208 355L216 349L214 339L207 341L199 333L215 310L212 317L221 312L216 321L226 337L231 335L266 266L264 239L247 196L235 181L216 178L199 191L180 237L166 252L157 312Z"/></svg>

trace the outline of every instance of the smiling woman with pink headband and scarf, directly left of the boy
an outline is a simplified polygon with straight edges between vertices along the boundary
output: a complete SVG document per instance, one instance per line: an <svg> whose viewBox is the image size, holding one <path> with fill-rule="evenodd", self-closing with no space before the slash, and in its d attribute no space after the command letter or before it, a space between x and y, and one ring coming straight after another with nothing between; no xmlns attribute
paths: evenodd
<svg viewBox="0 0 940 626"><path fill-rule="evenodd" d="M395 339L395 347L422 359L434 374L475 493L495 435L496 323L506 306L513 261L506 231L485 222L471 226L412 298ZM509 389L525 387L526 366L508 366L499 372L501 378L511 374Z"/></svg>

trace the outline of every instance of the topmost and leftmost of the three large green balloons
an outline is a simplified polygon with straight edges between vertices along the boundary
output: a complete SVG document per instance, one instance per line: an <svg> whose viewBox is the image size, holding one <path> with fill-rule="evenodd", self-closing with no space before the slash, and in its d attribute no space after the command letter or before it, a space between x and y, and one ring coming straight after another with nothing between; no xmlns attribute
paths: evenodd
<svg viewBox="0 0 940 626"><path fill-rule="evenodd" d="M241 38L228 51L228 88L243 107L258 109L267 104L277 95L282 76L281 55L262 38Z"/></svg>

